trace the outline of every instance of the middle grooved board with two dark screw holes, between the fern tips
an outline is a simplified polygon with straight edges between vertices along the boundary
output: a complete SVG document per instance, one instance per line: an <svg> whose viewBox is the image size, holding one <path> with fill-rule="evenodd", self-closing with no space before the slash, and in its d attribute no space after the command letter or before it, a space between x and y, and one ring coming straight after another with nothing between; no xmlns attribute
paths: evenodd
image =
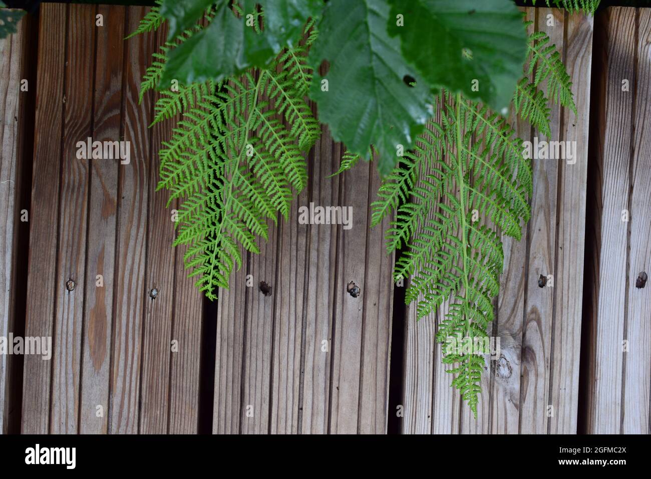
<svg viewBox="0 0 651 479"><path fill-rule="evenodd" d="M386 430L393 257L381 253L383 230L368 229L374 166L328 179L341 154L324 132L289 222L271 225L260 255L247 255L219 291L215 433ZM299 224L298 208L309 203L352 207L352 228ZM350 281L361 288L357 298L346 291Z"/></svg>

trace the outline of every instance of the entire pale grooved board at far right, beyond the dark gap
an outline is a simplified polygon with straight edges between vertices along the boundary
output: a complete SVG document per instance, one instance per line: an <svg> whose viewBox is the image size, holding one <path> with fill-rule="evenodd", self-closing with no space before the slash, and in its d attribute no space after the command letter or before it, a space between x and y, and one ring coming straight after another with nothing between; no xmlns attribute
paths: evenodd
<svg viewBox="0 0 651 479"><path fill-rule="evenodd" d="M650 433L651 216L648 129L651 22L644 8L606 10L598 115L596 225L589 292L590 355L587 381L589 433ZM628 91L624 91L624 80ZM632 134L631 134L632 132ZM628 221L624 216L628 213ZM626 341L626 343L625 343Z"/></svg>

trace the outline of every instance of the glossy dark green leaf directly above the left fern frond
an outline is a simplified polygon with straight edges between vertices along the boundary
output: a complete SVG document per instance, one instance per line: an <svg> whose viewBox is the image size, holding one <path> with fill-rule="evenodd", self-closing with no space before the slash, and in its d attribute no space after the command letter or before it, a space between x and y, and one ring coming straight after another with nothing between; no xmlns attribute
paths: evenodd
<svg viewBox="0 0 651 479"><path fill-rule="evenodd" d="M204 5L203 0L187 3L197 7L179 10L186 14L178 23L179 28L192 25L190 19L198 14L194 18L197 22L203 12L199 8ZM319 0L245 0L239 5L242 15L238 18L229 1L218 3L210 25L169 53L161 84L169 85L171 80L186 85L193 81L221 81L252 66L264 68L284 47L298 43L307 19L318 16L322 8ZM250 26L250 16L255 20L258 5L262 7L263 31Z"/></svg>

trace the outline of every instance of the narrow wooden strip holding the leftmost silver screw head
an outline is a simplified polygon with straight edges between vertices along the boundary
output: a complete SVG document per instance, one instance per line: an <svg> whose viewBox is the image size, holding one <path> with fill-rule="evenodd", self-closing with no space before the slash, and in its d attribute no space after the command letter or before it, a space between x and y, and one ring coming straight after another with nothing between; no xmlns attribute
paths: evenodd
<svg viewBox="0 0 651 479"><path fill-rule="evenodd" d="M94 68L94 13L90 5L74 5L68 13L57 270L64 283L71 280L75 287L57 288L50 418L55 434L76 433L78 425L89 160L77 158L77 141L91 135L92 115L92 74L79 72Z"/></svg>

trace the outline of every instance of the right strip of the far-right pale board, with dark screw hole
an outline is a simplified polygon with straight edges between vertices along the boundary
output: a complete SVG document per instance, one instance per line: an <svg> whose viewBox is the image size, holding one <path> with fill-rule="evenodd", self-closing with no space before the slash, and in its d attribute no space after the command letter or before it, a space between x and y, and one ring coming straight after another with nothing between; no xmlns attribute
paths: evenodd
<svg viewBox="0 0 651 479"><path fill-rule="evenodd" d="M637 10L637 78L635 78L635 135L631 164L631 222L627 287L621 433L648 434L651 379L651 283L638 288L637 277L651 274L651 11Z"/></svg>

